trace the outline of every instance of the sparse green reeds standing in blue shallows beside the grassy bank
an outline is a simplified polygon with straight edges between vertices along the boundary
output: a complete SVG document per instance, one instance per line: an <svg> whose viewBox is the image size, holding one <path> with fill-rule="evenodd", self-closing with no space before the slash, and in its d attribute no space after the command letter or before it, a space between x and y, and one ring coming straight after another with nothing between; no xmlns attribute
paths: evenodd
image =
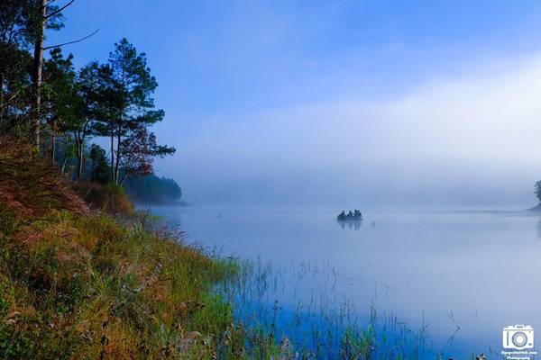
<svg viewBox="0 0 541 360"><path fill-rule="evenodd" d="M254 358L272 356L277 349L280 358L295 359L454 357L452 348L434 345L424 319L411 328L392 312L378 313L374 302L369 315L360 316L364 311L351 300L335 296L336 283L344 280L328 264L273 266L258 259L239 263L237 275L217 291L234 304L234 318L247 334L246 351ZM315 288L307 291L306 284Z"/></svg>

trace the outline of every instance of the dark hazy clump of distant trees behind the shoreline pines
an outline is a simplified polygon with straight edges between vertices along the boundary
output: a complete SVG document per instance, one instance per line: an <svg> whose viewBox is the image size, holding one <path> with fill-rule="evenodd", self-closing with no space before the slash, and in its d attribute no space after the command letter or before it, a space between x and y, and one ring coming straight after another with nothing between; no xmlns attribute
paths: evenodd
<svg viewBox="0 0 541 360"><path fill-rule="evenodd" d="M144 204L179 203L182 196L182 190L175 180L154 174L128 177L124 188L134 202Z"/></svg>

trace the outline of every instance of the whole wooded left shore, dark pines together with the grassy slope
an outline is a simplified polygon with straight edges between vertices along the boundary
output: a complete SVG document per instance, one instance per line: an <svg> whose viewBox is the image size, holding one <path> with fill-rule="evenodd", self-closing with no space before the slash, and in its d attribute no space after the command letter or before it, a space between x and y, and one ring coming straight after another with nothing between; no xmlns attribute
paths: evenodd
<svg viewBox="0 0 541 360"><path fill-rule="evenodd" d="M213 291L234 262L126 196L181 195L153 175L175 149L151 131L165 114L145 54L121 38L75 68L64 49L94 33L47 43L77 4L0 2L0 359L243 357L243 329Z"/></svg>

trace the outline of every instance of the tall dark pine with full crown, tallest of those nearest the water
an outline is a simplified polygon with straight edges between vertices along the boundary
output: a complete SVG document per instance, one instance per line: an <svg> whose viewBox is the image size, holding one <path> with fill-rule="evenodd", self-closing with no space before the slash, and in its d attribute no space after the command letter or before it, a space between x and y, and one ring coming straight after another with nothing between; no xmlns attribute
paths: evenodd
<svg viewBox="0 0 541 360"><path fill-rule="evenodd" d="M100 75L104 84L101 132L110 137L111 178L114 184L120 184L121 167L132 163L127 158L133 156L133 147L125 141L142 139L142 131L163 120L164 112L154 108L152 94L158 83L147 67L146 56L128 40L115 43ZM148 134L144 138L148 141Z"/></svg>

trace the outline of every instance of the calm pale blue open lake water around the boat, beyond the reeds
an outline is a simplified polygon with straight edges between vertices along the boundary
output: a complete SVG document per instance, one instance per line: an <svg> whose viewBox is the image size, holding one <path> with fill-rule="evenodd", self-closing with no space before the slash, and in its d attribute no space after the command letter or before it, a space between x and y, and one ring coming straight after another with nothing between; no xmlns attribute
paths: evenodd
<svg viewBox="0 0 541 360"><path fill-rule="evenodd" d="M362 226L350 227L334 220L338 210L152 209L189 241L270 262L278 275L265 302L284 312L347 304L362 321L373 302L378 314L392 313L411 329L426 326L431 346L455 356L499 353L507 325L541 333L541 218L366 211Z"/></svg>

